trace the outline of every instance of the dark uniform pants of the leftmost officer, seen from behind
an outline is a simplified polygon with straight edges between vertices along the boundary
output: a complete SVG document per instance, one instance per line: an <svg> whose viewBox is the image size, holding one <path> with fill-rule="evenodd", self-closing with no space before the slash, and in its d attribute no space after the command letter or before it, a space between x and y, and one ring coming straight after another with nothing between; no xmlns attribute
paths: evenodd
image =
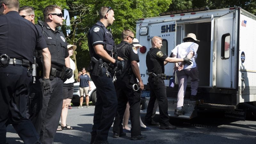
<svg viewBox="0 0 256 144"><path fill-rule="evenodd" d="M28 68L20 65L0 67L0 143L6 142L5 123L8 118L24 143L40 143L34 125L26 118L32 83L32 77L27 72Z"/></svg>

